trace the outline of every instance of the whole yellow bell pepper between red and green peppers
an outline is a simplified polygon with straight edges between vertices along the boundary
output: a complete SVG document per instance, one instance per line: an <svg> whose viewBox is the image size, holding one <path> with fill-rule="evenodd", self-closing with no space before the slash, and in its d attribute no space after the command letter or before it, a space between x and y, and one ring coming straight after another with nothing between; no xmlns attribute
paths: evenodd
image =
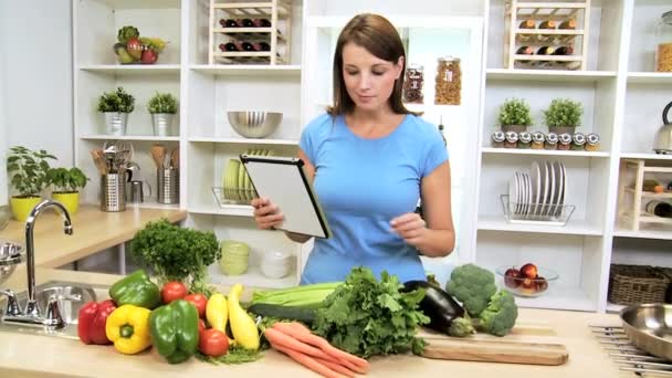
<svg viewBox="0 0 672 378"><path fill-rule="evenodd" d="M105 334L118 351L135 355L151 345L149 314L150 309L130 304L117 307L109 314L105 323Z"/></svg>

